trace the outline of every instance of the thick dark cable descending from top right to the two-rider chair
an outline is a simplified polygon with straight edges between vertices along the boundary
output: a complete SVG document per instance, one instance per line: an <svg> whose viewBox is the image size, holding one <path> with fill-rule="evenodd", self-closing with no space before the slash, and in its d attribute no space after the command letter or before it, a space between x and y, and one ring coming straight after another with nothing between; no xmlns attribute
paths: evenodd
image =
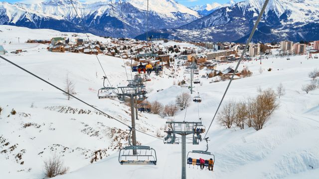
<svg viewBox="0 0 319 179"><path fill-rule="evenodd" d="M231 76L231 79L230 79L230 81L229 81L229 83L228 83L228 86L227 86L227 88L226 88L226 90L225 90L225 92L224 92L223 97L222 97L221 100L220 100L220 103L219 103L219 105L218 105L218 107L217 107L217 110L216 110L216 112L215 112L215 114L214 114L213 119L212 119L211 122L210 122L210 125L209 125L209 127L208 127L208 129L207 129L207 131L206 131L206 134L205 134L204 138L206 137L206 135L207 135L207 133L208 133L208 130L210 129L211 124L213 123L213 121L214 121L214 119L215 119L215 117L216 117L216 115L217 115L218 109L219 109L221 103L222 103L223 100L224 100L224 97L225 97L225 95L226 95L226 93L227 93L227 91L228 91L228 89L229 89L229 86L230 86L231 82L232 82L233 79L234 79L235 73L236 73L237 70L238 70L238 67L239 67L239 65L240 65L240 62L242 61L242 59L244 58L244 55L246 54L248 45L249 45L251 39L253 38L253 35L254 35L255 30L256 30L256 28L257 28L257 26L258 26L258 24L259 24L259 22L260 22L260 20L261 20L261 17L263 16L263 14L264 14L264 12L265 12L265 9L266 9L266 6L267 6L267 4L268 4L268 1L269 1L269 0L265 0L265 2L264 2L264 5L263 5L263 7L262 7L262 9L261 9L261 11L260 11L260 13L259 13L259 15L258 15L257 21L255 22L255 25L254 25L254 27L253 27L253 29L252 29L250 35L249 35L249 38L248 38L248 40L247 40L247 42L246 42L246 45L245 45L245 48L244 48L244 50L243 50L243 52L242 52L242 54L241 54L240 59L238 60L238 63L237 63L236 68L235 68L235 70L234 70L234 73L233 73L233 75Z"/></svg>

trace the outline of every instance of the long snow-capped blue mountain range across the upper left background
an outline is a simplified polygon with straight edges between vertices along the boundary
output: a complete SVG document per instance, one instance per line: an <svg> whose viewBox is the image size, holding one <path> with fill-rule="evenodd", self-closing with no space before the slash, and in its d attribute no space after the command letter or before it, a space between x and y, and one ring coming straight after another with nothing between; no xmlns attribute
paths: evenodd
<svg viewBox="0 0 319 179"><path fill-rule="evenodd" d="M73 0L89 32L114 37L134 37L147 29L147 1L110 1L82 3ZM174 0L150 1L149 29L178 27L200 15ZM36 4L0 2L0 24L29 28L49 28L60 31L83 32L81 19L76 16L70 0L45 0Z"/></svg>

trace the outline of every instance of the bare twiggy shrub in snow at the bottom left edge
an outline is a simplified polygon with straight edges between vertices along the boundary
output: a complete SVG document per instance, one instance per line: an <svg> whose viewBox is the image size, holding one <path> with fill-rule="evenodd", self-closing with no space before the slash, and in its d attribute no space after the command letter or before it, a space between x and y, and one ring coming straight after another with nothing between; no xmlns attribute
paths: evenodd
<svg viewBox="0 0 319 179"><path fill-rule="evenodd" d="M63 161L59 157L54 156L44 162L44 174L47 178L64 175L67 171L68 168L63 166Z"/></svg>

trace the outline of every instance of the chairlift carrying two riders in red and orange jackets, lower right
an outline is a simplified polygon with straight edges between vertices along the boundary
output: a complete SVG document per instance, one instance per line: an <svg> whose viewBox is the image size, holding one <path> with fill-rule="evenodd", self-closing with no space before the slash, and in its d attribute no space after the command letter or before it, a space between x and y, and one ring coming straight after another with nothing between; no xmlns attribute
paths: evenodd
<svg viewBox="0 0 319 179"><path fill-rule="evenodd" d="M190 168L190 165L194 166L196 165L197 166L197 169L198 169L198 166L200 166L200 162L199 162L199 159L195 158L195 155L205 155L207 156L207 159L212 159L212 164L211 164L211 168L213 170L214 168L214 164L215 164L215 155L211 154L210 152L207 152L208 151L208 137L204 139L206 141L206 150L205 151L201 151L201 150L193 150L191 152L188 152L187 153L187 164L189 164L189 168ZM204 158L204 157L200 157L200 158ZM208 160L205 160L205 164L204 164L204 167L206 167L206 170L207 170L207 167L209 166L209 161Z"/></svg>

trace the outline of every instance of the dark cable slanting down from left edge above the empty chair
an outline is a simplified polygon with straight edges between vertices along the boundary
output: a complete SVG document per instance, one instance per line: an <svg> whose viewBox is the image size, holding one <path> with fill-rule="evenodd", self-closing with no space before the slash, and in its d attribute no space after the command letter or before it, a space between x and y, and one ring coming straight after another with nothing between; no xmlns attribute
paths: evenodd
<svg viewBox="0 0 319 179"><path fill-rule="evenodd" d="M153 136L153 135L151 135L151 134L147 134L147 133L145 133L145 132L143 132L143 131L140 131L140 130L138 130L138 129L136 129L136 128L133 128L133 127L131 127L131 126L129 126L129 125L127 125L127 124L125 124L124 122L121 122L119 119L117 119L117 118L115 118L115 117L113 117L113 116L111 116L111 115L109 115L109 114L107 114L107 113L103 112L102 110L100 110L100 109L98 109L97 107L94 107L93 105L91 105L91 104L89 104L89 103L85 102L84 100L82 100L82 99L80 99L80 98L78 98L78 97L74 96L73 94L68 93L68 92L66 92L66 91L65 91L65 90L63 90L63 89L60 89L59 87L57 87L57 86L55 86L55 85L51 84L50 82L48 82L48 81L44 80L43 78L41 78L41 77L39 77L39 76L37 76L37 75L33 74L32 72L30 72L30 71L28 71L28 70L26 70L26 69L22 68L21 66L19 66L19 65L15 64L15 63L13 63L13 62L11 62L10 60L8 60L8 59L6 59L6 58L4 58L4 57L2 57L2 56L0 56L0 58L1 58L1 59L3 59L3 60L5 60L6 62L8 62L8 63L12 64L13 66L15 66L15 67L17 67L17 68L21 69L22 71L24 71L24 72L26 72L26 73L28 73L28 74L32 75L33 77L35 77L35 78L37 78L37 79L39 79L39 80L43 81L44 83L46 83L46 84L48 84L48 85L50 85L50 86L52 86L52 87L54 87L54 88L56 88L56 89L58 89L58 90L62 91L63 93L66 93L66 94L68 94L68 95L72 96L73 98L77 99L78 101L80 101L80 102L82 102L82 103L84 103L84 104L86 104L86 105L88 105L88 106L92 107L93 109L95 109L95 110L97 110L97 111L99 111L99 112L101 112L101 113L105 114L108 118L114 119L114 120L116 120L116 121L120 122L121 124L123 124L123 125L125 125L125 126L127 126L127 127L129 127L129 128L134 129L135 131L138 131L138 132L141 132L141 133L146 134L146 135L148 135L148 136L151 136L151 137L154 137L154 138L157 138L157 139L162 140L162 139L161 139L161 138L159 138L159 137Z"/></svg>

